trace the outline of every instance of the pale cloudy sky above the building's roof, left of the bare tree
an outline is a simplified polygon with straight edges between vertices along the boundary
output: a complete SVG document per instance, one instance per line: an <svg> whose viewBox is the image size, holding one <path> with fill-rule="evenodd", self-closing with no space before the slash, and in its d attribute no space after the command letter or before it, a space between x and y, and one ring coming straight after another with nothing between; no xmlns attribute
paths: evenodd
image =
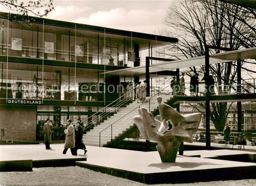
<svg viewBox="0 0 256 186"><path fill-rule="evenodd" d="M46 18L157 34L173 1L54 0L55 10Z"/></svg>

